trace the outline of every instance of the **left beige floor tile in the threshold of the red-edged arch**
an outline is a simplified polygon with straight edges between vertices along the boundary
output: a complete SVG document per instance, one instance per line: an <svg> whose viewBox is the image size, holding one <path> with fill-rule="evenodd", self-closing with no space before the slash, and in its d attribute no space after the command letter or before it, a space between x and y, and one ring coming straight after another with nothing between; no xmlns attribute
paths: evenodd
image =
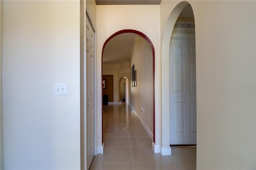
<svg viewBox="0 0 256 170"><path fill-rule="evenodd" d="M107 136L105 147L130 147L128 137L109 137Z"/></svg>

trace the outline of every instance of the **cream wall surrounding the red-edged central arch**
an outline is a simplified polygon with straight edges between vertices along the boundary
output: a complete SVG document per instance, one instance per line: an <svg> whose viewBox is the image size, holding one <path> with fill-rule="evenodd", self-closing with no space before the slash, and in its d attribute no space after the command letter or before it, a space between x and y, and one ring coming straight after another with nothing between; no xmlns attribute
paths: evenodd
<svg viewBox="0 0 256 170"><path fill-rule="evenodd" d="M97 69L101 70L101 53L104 42L114 33L133 29L143 32L153 43L155 49L156 75L160 73L160 6L159 5L99 5L96 6L97 16ZM150 19L149 19L150 18ZM129 69L130 72L130 69ZM129 78L130 75L125 75ZM121 77L120 77L121 78ZM101 81L101 75L98 75ZM101 91L101 86L97 87ZM160 112L160 76L155 79L156 115ZM100 97L100 94L98 94ZM131 100L130 100L131 101ZM100 101L99 101L100 102ZM99 105L98 108L101 108ZM98 109L99 110L99 109ZM156 144L160 144L159 117L156 116Z"/></svg>

